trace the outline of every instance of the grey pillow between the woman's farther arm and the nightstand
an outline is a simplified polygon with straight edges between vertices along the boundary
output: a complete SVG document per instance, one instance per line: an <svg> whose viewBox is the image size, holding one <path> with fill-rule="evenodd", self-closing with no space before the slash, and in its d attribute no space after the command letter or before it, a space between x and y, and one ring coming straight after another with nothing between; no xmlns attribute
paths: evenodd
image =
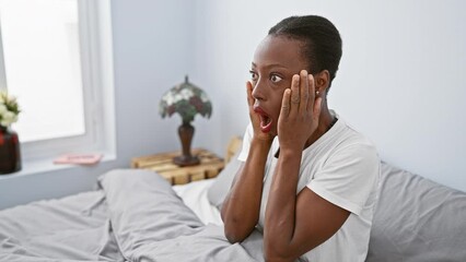
<svg viewBox="0 0 466 262"><path fill-rule="evenodd" d="M231 157L225 168L220 171L219 176L217 176L215 178L215 181L212 183L212 186L210 186L207 191L207 198L210 204L214 205L219 210L221 209L223 200L230 191L233 178L242 164L242 162L237 159L240 152L241 146L240 150L235 152L233 157Z"/></svg>

